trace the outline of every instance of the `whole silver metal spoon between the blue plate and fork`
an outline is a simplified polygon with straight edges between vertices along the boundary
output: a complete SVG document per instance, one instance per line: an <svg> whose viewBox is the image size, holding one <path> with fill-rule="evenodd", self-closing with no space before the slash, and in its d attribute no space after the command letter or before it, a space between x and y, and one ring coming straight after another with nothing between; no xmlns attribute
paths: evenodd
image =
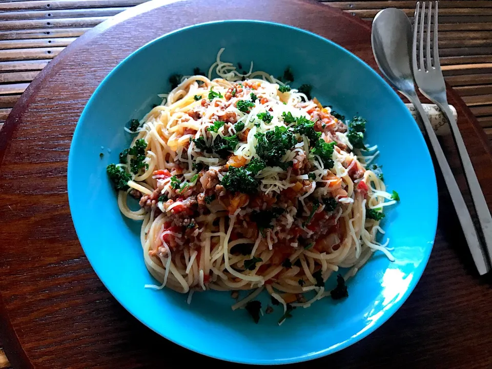
<svg viewBox="0 0 492 369"><path fill-rule="evenodd" d="M453 172L449 168L436 133L432 125L430 125L429 119L415 92L414 77L410 64L412 60L412 37L410 20L399 9L381 10L373 20L371 42L376 63L389 83L405 95L417 109L427 131L430 145L432 145L441 167L444 181L453 200L471 256L475 261L478 272L482 275L489 271L485 253L480 247L477 232Z"/></svg>

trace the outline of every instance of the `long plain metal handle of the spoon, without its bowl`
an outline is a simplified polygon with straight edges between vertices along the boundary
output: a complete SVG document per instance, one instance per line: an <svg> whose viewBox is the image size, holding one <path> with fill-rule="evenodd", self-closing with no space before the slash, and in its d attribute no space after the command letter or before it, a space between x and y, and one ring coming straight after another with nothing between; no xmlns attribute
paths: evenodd
<svg viewBox="0 0 492 369"><path fill-rule="evenodd" d="M471 216L468 212L468 208L466 207L465 200L461 195L458 183L456 183L453 172L449 167L449 163L447 162L441 145L437 140L436 133L434 132L434 129L432 128L432 125L427 118L427 114L425 114L425 111L422 108L422 104L420 103L419 98L416 94L407 95L407 97L417 109L422 119L424 128L427 131L427 135L430 140L430 145L434 149L434 153L436 155L437 162L439 163L439 167L441 168L444 181L446 182L446 186L449 191L449 195L451 196L451 200L453 201L458 219L461 223L461 228L463 229L463 233L465 235L466 242L468 243L468 248L470 249L471 256L473 257L478 272L480 273L480 275L483 275L489 271L488 263L486 261L486 256L484 255L482 248L480 247L480 241L478 239L475 226L473 224L473 221L471 220Z"/></svg>

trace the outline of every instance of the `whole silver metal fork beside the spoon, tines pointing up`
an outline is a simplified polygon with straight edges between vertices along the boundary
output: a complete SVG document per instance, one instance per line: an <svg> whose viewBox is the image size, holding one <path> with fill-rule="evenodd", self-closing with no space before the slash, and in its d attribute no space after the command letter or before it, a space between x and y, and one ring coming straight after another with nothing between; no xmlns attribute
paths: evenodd
<svg viewBox="0 0 492 369"><path fill-rule="evenodd" d="M489 258L492 258L492 216L483 196L480 183L478 182L477 175L471 164L470 157L466 151L463 137L461 136L456 120L453 117L453 113L449 109L446 98L446 85L444 84L444 78L442 76L441 65L439 63L439 48L437 38L437 25L438 25L438 5L437 1L434 2L434 34L433 43L430 43L430 23L432 21L433 9L432 3L428 4L427 11L427 32L426 42L424 43L424 24L425 24L425 2L422 2L422 10L420 10L421 2L417 2L415 7L414 17L414 48L413 48L413 72L417 86L420 92L426 96L429 100L432 100L444 113L449 125L451 126L451 132L461 159L463 171L465 173L466 181L470 189L471 197L475 205L475 210L480 222L480 226L483 231L483 240L485 242ZM420 27L419 27L420 19ZM419 30L420 28L420 30ZM419 48L417 49L417 38L419 38ZM425 44L425 45L424 45ZM425 59L424 59L424 46L425 46ZM431 54L432 47L432 54ZM417 61L418 53L418 61ZM433 56L433 57L432 57ZM433 63L434 60L434 63Z"/></svg>

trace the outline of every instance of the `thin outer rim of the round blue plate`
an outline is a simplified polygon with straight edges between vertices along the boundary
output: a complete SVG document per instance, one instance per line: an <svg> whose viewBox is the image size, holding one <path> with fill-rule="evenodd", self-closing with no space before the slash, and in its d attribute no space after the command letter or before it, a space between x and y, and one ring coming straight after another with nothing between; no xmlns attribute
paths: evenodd
<svg viewBox="0 0 492 369"><path fill-rule="evenodd" d="M434 190L433 191L433 194L435 195L436 208L435 209L430 209L430 211L432 211L432 213L428 213L430 215L429 216L429 221L432 221L432 223L433 223L433 224L431 224L432 227L430 227L430 229L433 230L433 232L432 232L432 241L429 241L430 244L429 244L429 248L427 249L428 251L425 252L425 254L423 254L422 261L419 264L419 268L417 269L418 274L414 274L415 277L412 278L411 283L409 283L406 291L402 294L403 296L400 299L398 299L397 302L392 303L391 306L389 307L389 309L384 310L384 314L382 314L382 316L380 318L378 318L376 320L376 322L374 324L372 324L369 329L364 329L362 331L359 331L357 334L355 334L354 336L352 336L350 339L347 339L347 340L345 340L343 342L340 342L339 344L332 345L330 347L327 347L324 350L320 350L320 351L317 351L315 353L309 353L309 354L306 354L306 355L299 355L297 357L289 357L289 358L285 358L285 359L283 359L283 358L282 359L254 359L254 358L252 358L252 359L248 359L248 360L234 360L234 358L228 357L227 355L224 355L224 354L216 355L216 354L208 353L208 352L206 352L204 350L200 350L199 348L194 347L194 345L190 343L190 340L182 339L179 336L178 337L170 337L169 335L165 335L165 334L162 334L161 332L158 332L152 325L149 325L145 321L141 320L140 317L138 316L138 314L135 314L131 309L129 309L129 307L124 302L122 302L122 300L117 296L117 294L114 294L113 293L113 290L106 283L106 281L100 277L98 271L93 267L93 263L91 262L91 257L89 257L89 255L86 253L86 248L84 247L84 244L81 241L80 233L77 230L77 225L76 225L75 221L73 220L74 219L74 217L73 217L73 214L74 214L74 211L73 211L73 208L74 208L73 207L73 203L75 201L75 195L74 195L74 191L71 190L71 188L73 188L73 186L74 186L74 184L73 184L73 178L74 178L74 171L75 171L75 169L74 169L74 166L71 165L71 162L73 162L73 160L74 160L73 159L73 156L75 154L73 153L74 151L72 150L72 148L73 148L73 145L74 145L74 141L76 140L76 137L80 134L80 130L81 130L80 127L81 127L81 125L79 123L81 121L87 119L87 114L88 114L88 111L89 111L89 107L91 106L91 104L93 104L94 98L97 96L97 94L100 92L100 90L103 89L103 86L106 83L108 83L108 80L112 78L113 74L115 74L116 71L123 64L127 64L131 59L133 59L136 56L136 54L139 54L142 51L144 51L145 49L151 47L151 45L153 45L155 43L158 43L161 39L167 38L169 36L172 36L174 34L177 34L177 33L183 32L183 31L187 31L187 30L192 29L192 28L206 27L206 26L209 26L209 25L215 25L215 24L221 24L221 23L246 23L246 24L252 24L252 25L255 25L255 24L268 25L268 26L273 26L273 27L288 29L290 31L301 32L301 33L303 33L305 35L309 35L311 37L316 37L316 38L322 40L323 42L329 43L333 47L335 47L339 52L346 53L346 54L350 55L350 57L355 58L368 73L371 73L373 75L373 77L376 77L377 79L379 79L380 82L383 83L383 86L387 90L386 92L388 94L393 95L393 97L396 98L396 100L398 101L397 104L400 104L401 107L403 107L403 108L406 109L403 101L396 94L396 92L392 89L392 87L389 86L389 84L386 82L386 80L384 80L364 60L362 60L361 58L359 58L357 55L355 55L351 51L345 49L344 47L342 47L342 46L340 46L338 44L336 44L332 40L330 40L328 38L325 38L323 36L320 36L320 35L318 35L318 34L316 34L314 32L311 32L311 31L307 31L307 30L304 30L304 29L301 29L301 28L297 28L297 27L286 25L286 24L282 24L282 23L269 22L269 21L264 21L264 20L239 19L238 18L238 19L214 20L214 21L211 21L211 22L199 23L199 24L190 25L190 26L187 26L187 27L179 28L177 30L174 30L174 31L165 33L165 34L163 34L163 35L161 35L159 37L154 38L153 40L151 40L150 42L146 43L145 45L139 47L137 50L133 51L130 55L128 55L127 57L125 57L123 60L121 60L108 73L108 75L106 75L106 77L103 78L103 80L100 82L100 84L94 90L94 92L92 93L92 95L88 99L88 101L86 103L86 106L84 107L84 110L82 111L82 113L81 113L81 115L80 115L80 117L79 117L79 119L77 121L77 125L75 127L75 131L74 131L74 134L73 134L73 137L72 137L72 141L71 141L71 145L70 145L70 152L69 152L69 158L68 158L68 164L67 164L67 166L68 166L68 168L67 168L68 199L69 199L70 213L71 213L71 216L72 216L72 222L74 224L75 232L77 234L77 238L79 239L80 245L81 245L82 249L84 250L84 253L86 254L86 257L87 257L87 259L89 260L89 262L91 264L92 269L96 273L96 275L99 278L99 280L105 285L106 289L108 289L108 291L111 293L111 295L130 314L132 314L138 321L140 321L142 324L146 325L149 329L151 329L152 331L156 332L158 335L162 336L165 339L168 339L168 340L170 340L170 341L172 341L172 342L174 342L174 343L176 343L176 344L178 344L178 345L180 345L182 347L187 348L188 350L194 351L194 352L199 353L201 355L205 355L205 356L212 357L212 358L219 359L219 360L224 360L224 361L229 361L229 362L235 362L235 363L241 363L241 364L255 364L255 365L292 364L292 363L298 363L298 362L313 360L313 359L317 359L317 358L320 358L320 357L323 357L323 356L327 356L327 355L333 354L335 352L338 352L338 351L342 350L345 347L351 346L352 344L354 344L354 343L360 341L361 339L367 337L369 334L371 334L375 330L377 330L389 318L391 318L393 316L393 314L395 314L396 311L401 308L401 306L406 301L406 299L408 298L408 296L414 291L414 289L415 289L418 281L420 280L420 278L421 278L421 276L422 276L422 274L423 274L423 272L425 270L425 267L426 267L427 262L429 260L430 253L432 252L432 249L433 249L433 246L434 246L435 237L436 237L439 202L438 202L437 181L436 181L435 170L434 170L434 166L432 165L432 159L430 157L430 153L428 151L427 145L425 144L425 140L424 140L424 137L423 136L421 136L420 139L424 142L424 147L427 149L424 155L426 155L428 157L428 159L429 159L428 161L430 162L430 165L432 167L432 173L434 174L433 178L428 178L428 179L431 182L430 184L432 184L432 189ZM408 116L409 117L412 117L412 115L409 112L408 112ZM412 118L412 123L416 127L418 127L417 122L413 118Z"/></svg>

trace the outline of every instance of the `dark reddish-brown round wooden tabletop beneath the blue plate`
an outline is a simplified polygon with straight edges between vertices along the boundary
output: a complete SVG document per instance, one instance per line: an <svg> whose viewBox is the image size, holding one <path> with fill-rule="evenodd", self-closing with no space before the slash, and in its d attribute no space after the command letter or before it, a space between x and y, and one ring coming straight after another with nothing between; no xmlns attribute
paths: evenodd
<svg viewBox="0 0 492 369"><path fill-rule="evenodd" d="M13 367L181 367L185 358L218 368L231 366L161 338L104 288L75 235L66 167L81 111L121 59L171 30L238 17L313 31L375 67L370 24L301 0L149 2L117 15L67 47L29 86L0 131L0 335ZM449 100L457 108L458 124L490 206L492 155L487 139L451 90ZM447 144L446 139L443 142ZM456 164L448 145L446 150ZM461 174L457 176L462 181ZM369 337L293 367L492 365L491 280L478 277L439 173L438 180L436 243L414 293Z"/></svg>

